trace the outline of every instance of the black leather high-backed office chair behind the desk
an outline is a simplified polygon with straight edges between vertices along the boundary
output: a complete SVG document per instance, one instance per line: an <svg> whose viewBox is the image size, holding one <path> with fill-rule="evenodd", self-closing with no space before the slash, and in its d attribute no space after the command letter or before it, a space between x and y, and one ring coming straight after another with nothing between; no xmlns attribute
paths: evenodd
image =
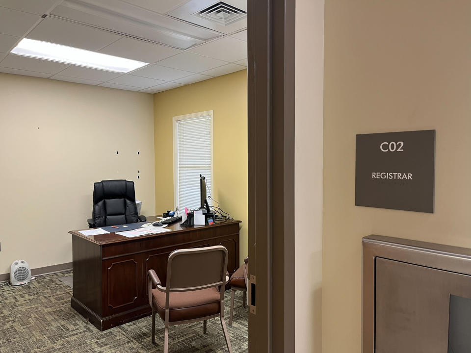
<svg viewBox="0 0 471 353"><path fill-rule="evenodd" d="M137 216L134 182L128 180L102 180L93 184L93 211L88 227L115 226L145 222Z"/></svg>

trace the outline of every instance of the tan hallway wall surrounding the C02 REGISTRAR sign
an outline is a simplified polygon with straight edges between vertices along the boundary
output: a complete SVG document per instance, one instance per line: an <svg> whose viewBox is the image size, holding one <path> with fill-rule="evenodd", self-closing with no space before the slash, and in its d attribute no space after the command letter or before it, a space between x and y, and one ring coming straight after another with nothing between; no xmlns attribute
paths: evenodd
<svg viewBox="0 0 471 353"><path fill-rule="evenodd" d="M324 353L361 352L361 238L471 247L471 2L327 0ZM354 205L355 134L436 129L435 213Z"/></svg>

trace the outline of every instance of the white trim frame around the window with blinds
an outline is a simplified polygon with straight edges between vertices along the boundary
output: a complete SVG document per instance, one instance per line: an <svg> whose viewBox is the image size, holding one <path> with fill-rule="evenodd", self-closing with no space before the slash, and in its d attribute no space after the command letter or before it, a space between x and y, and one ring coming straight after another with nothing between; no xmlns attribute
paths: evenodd
<svg viewBox="0 0 471 353"><path fill-rule="evenodd" d="M173 117L173 209L178 206L178 129L177 124L182 120L201 118L209 116L211 119L211 187L209 189L210 195L213 195L214 191L214 110L207 110L202 112L196 112L191 114L178 115Z"/></svg>

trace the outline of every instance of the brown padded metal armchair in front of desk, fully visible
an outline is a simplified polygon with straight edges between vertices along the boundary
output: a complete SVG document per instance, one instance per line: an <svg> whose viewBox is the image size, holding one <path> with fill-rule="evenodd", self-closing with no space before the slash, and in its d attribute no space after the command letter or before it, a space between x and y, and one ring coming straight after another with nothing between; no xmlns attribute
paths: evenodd
<svg viewBox="0 0 471 353"><path fill-rule="evenodd" d="M152 308L152 343L156 343L156 312L165 323L164 352L168 353L168 327L219 316L229 353L231 342L224 321L227 249L223 246L176 250L168 256L167 283L162 287L154 270L147 272ZM153 289L153 286L156 289Z"/></svg>

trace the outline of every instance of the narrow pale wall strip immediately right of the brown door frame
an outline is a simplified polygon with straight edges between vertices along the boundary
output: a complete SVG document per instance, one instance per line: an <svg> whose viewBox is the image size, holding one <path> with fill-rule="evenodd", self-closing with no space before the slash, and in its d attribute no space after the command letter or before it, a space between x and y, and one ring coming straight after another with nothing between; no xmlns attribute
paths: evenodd
<svg viewBox="0 0 471 353"><path fill-rule="evenodd" d="M321 352L324 0L296 0L295 347Z"/></svg>

